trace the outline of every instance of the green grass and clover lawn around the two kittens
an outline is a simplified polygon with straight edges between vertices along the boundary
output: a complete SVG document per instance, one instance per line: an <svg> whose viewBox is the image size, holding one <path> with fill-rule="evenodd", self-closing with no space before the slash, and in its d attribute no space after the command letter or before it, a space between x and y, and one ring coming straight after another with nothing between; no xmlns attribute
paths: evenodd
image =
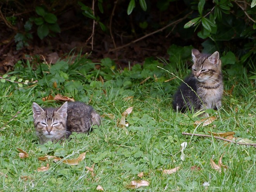
<svg viewBox="0 0 256 192"><path fill-rule="evenodd" d="M105 191L125 192L131 191L125 186L132 180L142 179L150 185L137 191L256 189L254 147L182 135L182 132L235 131L235 137L256 141L255 80L248 79L245 69L233 76L224 71L225 89L235 85L234 91L231 96L224 95L217 120L195 130L194 121L198 117L176 113L171 108L171 95L180 80L164 82L173 76L157 68L164 67L184 78L189 73L187 67L177 71L173 66L163 66L161 62L150 59L143 67L136 65L123 71L114 69L114 63L109 59L100 64L100 70L93 70L94 64L88 58L79 58L73 65L62 61L49 69L46 64L41 64L33 71L30 69L35 66L28 64L29 67L23 67L19 63L11 76L24 80L34 78L39 82L22 88L7 81L0 84L0 172L8 176L0 176L0 191L97 191L97 185L101 185ZM104 84L99 76L105 80ZM149 80L140 85L149 76ZM54 81L57 88L53 87ZM57 93L90 104L100 115L112 114L113 118L103 118L102 126L94 127L90 135L75 133L71 140L39 145L33 127L32 102L60 106L61 103L42 102L41 99ZM133 98L127 100L129 96ZM133 112L126 118L129 126L125 130L117 122L121 113L131 106ZM180 144L183 142L188 143L184 150L185 161L180 159ZM29 157L21 159L17 147L28 152ZM48 154L74 159L82 152L86 152L86 157L79 165L50 160L48 171L35 171L47 164L38 157ZM223 164L228 169L219 173L211 168L210 159L218 163L223 153ZM95 176L85 168L93 163ZM176 173L162 174L163 170L177 166L180 170ZM192 166L200 170L192 170ZM144 172L142 179L137 176L140 172ZM21 176L30 176L30 179L24 180ZM209 182L208 189L203 186L204 182Z"/></svg>

